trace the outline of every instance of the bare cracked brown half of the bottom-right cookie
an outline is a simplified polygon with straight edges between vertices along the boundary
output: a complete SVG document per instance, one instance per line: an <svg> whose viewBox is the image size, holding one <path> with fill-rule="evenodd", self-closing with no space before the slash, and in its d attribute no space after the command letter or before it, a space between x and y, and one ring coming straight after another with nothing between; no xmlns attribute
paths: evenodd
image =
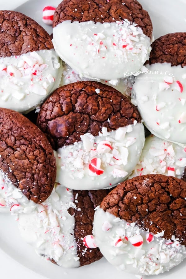
<svg viewBox="0 0 186 279"><path fill-rule="evenodd" d="M100 207L156 234L164 231L186 245L186 183L165 175L143 175L119 184Z"/></svg>

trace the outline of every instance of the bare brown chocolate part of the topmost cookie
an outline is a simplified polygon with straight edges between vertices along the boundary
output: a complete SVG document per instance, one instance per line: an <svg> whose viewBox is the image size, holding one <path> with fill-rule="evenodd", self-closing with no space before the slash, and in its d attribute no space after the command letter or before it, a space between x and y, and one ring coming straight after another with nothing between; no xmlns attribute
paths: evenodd
<svg viewBox="0 0 186 279"><path fill-rule="evenodd" d="M55 10L53 27L64 20L115 22L124 19L136 23L148 37L152 36L152 22L148 12L135 0L64 0Z"/></svg>

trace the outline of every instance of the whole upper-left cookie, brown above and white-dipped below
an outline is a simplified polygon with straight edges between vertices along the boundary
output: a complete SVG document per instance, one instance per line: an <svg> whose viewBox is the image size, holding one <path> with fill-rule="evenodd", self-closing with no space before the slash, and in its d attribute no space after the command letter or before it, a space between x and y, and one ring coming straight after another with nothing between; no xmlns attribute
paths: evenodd
<svg viewBox="0 0 186 279"><path fill-rule="evenodd" d="M61 62L49 34L16 11L0 11L1 107L27 112L60 84Z"/></svg>

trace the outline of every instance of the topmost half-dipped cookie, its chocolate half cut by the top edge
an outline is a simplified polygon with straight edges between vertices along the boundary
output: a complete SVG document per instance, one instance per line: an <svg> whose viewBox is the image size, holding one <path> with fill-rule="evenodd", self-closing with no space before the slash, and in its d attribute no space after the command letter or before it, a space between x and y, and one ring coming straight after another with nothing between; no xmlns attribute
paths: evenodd
<svg viewBox="0 0 186 279"><path fill-rule="evenodd" d="M136 0L63 0L54 13L52 42L80 77L113 80L148 60L152 29Z"/></svg>

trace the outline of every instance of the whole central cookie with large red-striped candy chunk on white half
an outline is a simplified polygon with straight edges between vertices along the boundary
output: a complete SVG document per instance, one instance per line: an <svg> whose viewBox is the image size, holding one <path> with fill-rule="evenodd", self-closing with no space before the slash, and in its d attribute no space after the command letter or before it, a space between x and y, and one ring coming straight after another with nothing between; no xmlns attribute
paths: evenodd
<svg viewBox="0 0 186 279"><path fill-rule="evenodd" d="M56 152L56 181L78 190L111 188L130 175L144 145L135 106L100 82L58 88L42 105L37 125Z"/></svg>

